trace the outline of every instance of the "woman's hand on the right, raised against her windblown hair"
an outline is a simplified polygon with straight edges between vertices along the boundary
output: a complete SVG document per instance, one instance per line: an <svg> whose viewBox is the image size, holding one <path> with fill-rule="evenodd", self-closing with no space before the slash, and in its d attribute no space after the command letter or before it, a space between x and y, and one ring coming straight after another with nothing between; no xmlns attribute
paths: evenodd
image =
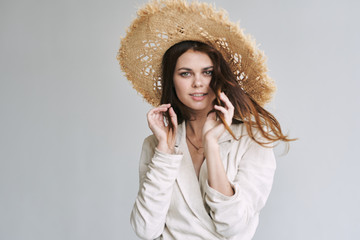
<svg viewBox="0 0 360 240"><path fill-rule="evenodd" d="M220 111L223 114L226 124L230 126L234 116L234 106L223 92L220 93L220 100L225 103L225 107L214 105L214 109ZM206 144L209 141L217 142L224 131L225 126L221 121L216 120L216 113L210 113L202 129L203 143Z"/></svg>

